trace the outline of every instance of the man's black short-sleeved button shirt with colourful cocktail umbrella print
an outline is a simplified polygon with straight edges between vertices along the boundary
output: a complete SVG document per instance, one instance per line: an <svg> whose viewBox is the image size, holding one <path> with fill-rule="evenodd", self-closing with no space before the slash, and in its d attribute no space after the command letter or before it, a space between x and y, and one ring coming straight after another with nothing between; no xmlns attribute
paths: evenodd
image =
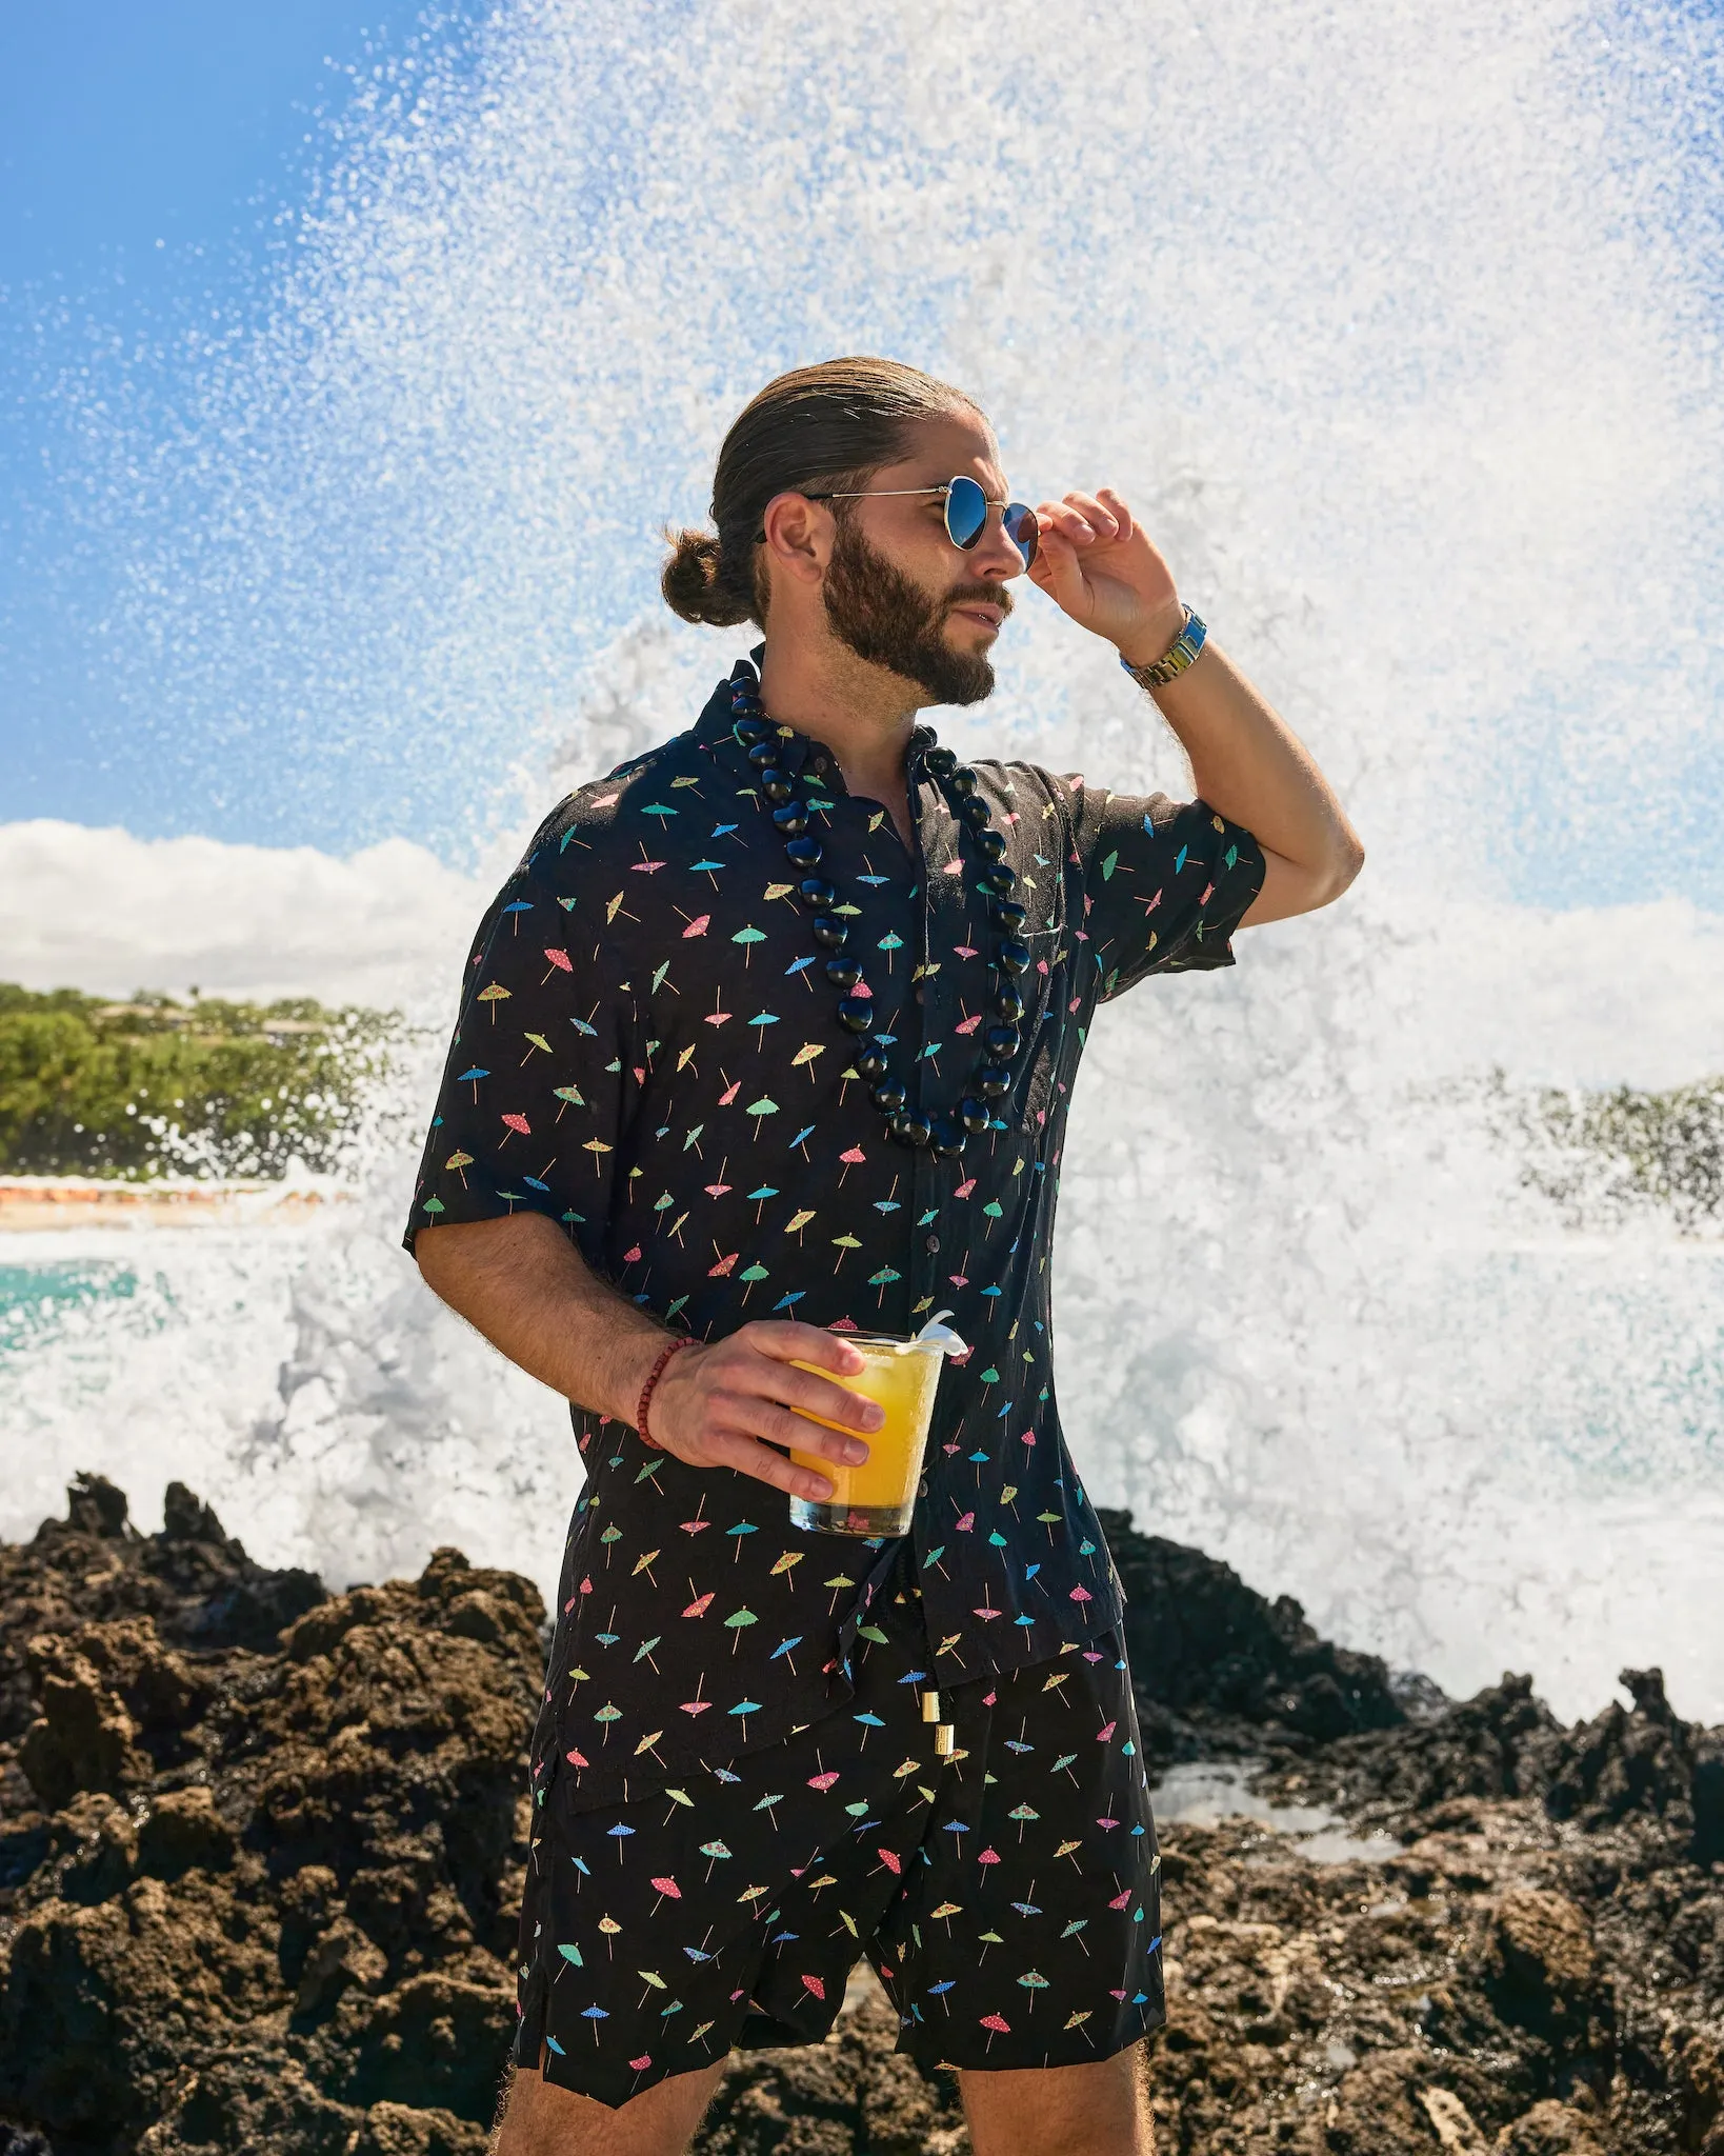
<svg viewBox="0 0 1724 2156"><path fill-rule="evenodd" d="M989 929L974 839L922 770L916 847L836 759L780 729L864 964L875 1035L924 1112L972 1091ZM1047 1259L1071 1082L1095 1005L1233 964L1263 882L1202 802L978 761L1028 906L1026 1048L959 1160L894 1145L819 970L800 871L720 683L687 731L571 793L474 942L407 1246L427 1222L543 1212L668 1326L752 1317L972 1343L940 1384L907 1550L931 1682L1047 1660L1121 1608L1060 1434ZM847 1688L875 1552L787 1501L573 1410L586 1462L534 1759L610 1802L812 1720Z"/></svg>

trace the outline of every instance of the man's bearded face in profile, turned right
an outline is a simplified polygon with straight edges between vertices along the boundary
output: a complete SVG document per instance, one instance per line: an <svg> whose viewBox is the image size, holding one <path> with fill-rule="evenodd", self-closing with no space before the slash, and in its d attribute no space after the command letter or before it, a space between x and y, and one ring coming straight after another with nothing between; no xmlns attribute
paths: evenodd
<svg viewBox="0 0 1724 2156"><path fill-rule="evenodd" d="M1024 573L1024 556L998 515L965 554L946 533L942 496L873 489L940 487L957 474L1004 500L998 451L974 414L929 420L912 457L873 474L866 500L834 502L838 533L821 584L832 634L914 681L929 703L981 703L993 692L989 651L1011 612L1006 578Z"/></svg>

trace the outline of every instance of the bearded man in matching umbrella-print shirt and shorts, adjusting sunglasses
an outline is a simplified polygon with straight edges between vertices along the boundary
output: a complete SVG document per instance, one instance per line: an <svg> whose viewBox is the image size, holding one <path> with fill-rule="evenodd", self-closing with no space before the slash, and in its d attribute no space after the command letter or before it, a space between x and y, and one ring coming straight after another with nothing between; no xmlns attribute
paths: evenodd
<svg viewBox="0 0 1724 2156"><path fill-rule="evenodd" d="M731 2046L817 2042L866 1953L978 2156L1142 2152L1159 1858L1049 1363L1069 1089L1099 1000L1231 964L1362 852L1125 502L1009 502L959 390L774 382L713 517L664 591L756 621L759 679L541 826L407 1235L586 1464L498 2150L681 2150ZM1155 694L1194 802L963 770L916 722L987 696L1026 569ZM832 1483L787 1449L858 1462L879 1423L845 1332L940 1311L972 1352L912 1533L797 1533Z"/></svg>

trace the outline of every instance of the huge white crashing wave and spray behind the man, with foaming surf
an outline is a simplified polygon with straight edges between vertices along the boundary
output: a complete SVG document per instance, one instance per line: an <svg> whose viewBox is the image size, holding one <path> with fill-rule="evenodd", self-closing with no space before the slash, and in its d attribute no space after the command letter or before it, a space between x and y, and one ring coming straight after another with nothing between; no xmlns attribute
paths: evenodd
<svg viewBox="0 0 1724 2156"><path fill-rule="evenodd" d="M1718 26L530 0L476 39L356 86L147 494L168 362L67 390L162 787L220 757L261 841L289 804L493 880L739 647L655 610L653 535L759 382L972 386L1019 492L1140 505L1371 852L1097 1026L1056 1248L1093 1492L1450 1690L1521 1667L1580 1714L1662 1662L1724 1718L1724 1248L1560 1218L1489 1110L1493 1072L1724 1067ZM1181 785L1034 595L1000 673L959 750ZM392 1000L437 1028L457 972L403 949ZM336 1580L437 1542L552 1578L567 1421L397 1248L433 1063L315 1225L9 1240L0 1529L97 1466Z"/></svg>

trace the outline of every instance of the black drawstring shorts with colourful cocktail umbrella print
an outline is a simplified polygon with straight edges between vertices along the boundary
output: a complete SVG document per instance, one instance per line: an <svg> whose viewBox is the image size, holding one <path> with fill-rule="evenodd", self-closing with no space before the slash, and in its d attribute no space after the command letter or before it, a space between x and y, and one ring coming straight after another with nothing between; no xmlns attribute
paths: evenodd
<svg viewBox="0 0 1724 2156"><path fill-rule="evenodd" d="M937 1695L927 1658L920 1598L894 1587L856 1695L784 1742L603 1809L552 1781L515 2057L616 2106L737 2044L817 2044L862 1955L922 2068L1075 2065L1157 2027L1159 1856L1123 1641Z"/></svg>

